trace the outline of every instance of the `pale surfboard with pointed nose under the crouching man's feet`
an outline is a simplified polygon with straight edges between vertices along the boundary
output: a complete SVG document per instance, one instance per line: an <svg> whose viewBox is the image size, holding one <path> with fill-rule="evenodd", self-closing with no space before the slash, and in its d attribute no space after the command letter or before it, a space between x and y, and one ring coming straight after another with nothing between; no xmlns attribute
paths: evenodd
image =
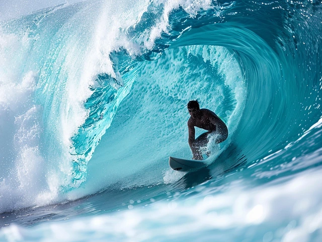
<svg viewBox="0 0 322 242"><path fill-rule="evenodd" d="M191 171L207 166L205 160L189 160L170 156L169 165L177 171Z"/></svg>

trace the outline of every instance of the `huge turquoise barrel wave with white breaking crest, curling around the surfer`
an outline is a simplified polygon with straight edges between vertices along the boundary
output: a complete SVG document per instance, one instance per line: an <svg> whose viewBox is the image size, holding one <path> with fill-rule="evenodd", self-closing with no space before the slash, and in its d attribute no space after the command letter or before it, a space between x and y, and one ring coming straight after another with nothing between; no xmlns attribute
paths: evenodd
<svg viewBox="0 0 322 242"><path fill-rule="evenodd" d="M167 157L191 158L185 109L195 98L229 129L212 176L318 166L320 10L100 1L2 23L1 211L177 181ZM280 166L314 152L307 166Z"/></svg>

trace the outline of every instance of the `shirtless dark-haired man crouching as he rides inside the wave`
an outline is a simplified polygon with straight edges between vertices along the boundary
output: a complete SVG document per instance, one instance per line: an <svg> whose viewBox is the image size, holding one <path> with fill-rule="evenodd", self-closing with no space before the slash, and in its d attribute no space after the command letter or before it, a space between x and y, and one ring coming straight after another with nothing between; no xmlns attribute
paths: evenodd
<svg viewBox="0 0 322 242"><path fill-rule="evenodd" d="M228 137L228 129L225 123L213 111L199 107L198 100L188 102L190 118L188 120L189 146L194 160L202 160L202 148L206 147L209 138L213 135L216 144L225 141ZM195 139L195 127L207 130ZM210 153L207 152L209 156Z"/></svg>

